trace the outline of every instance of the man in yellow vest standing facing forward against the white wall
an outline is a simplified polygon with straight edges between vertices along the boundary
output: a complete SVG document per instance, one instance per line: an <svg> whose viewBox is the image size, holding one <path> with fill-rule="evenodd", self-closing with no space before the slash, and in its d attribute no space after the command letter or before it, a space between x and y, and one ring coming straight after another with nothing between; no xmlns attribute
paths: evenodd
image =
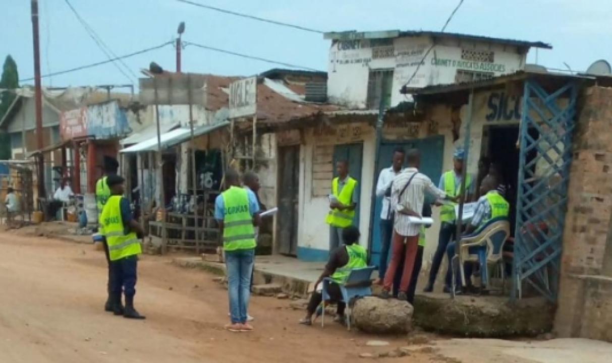
<svg viewBox="0 0 612 363"><path fill-rule="evenodd" d="M329 252L340 247L342 230L353 224L357 207L357 180L348 175L348 161L336 163L338 177L332 180L332 194L329 196Z"/></svg>

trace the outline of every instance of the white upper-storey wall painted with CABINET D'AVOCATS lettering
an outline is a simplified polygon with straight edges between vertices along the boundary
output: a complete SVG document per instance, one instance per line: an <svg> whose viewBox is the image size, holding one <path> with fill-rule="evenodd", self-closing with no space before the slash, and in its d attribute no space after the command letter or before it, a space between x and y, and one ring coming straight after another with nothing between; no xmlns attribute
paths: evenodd
<svg viewBox="0 0 612 363"><path fill-rule="evenodd" d="M368 76L371 70L393 70L391 105L406 98L397 90L410 81L410 87L455 82L457 70L513 73L524 67L525 56L513 46L502 46L467 40L436 40L424 62L420 60L430 48L429 37L400 37L382 40L349 40L333 42L329 50L327 95L332 103L351 108L366 108ZM461 50L493 51L492 62L473 62L461 57ZM411 79L412 78L412 79Z"/></svg>

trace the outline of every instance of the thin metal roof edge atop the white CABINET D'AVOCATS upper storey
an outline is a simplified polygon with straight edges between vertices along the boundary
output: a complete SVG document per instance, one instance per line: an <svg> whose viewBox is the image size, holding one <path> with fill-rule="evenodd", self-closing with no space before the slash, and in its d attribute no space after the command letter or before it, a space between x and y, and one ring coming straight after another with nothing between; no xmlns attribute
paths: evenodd
<svg viewBox="0 0 612 363"><path fill-rule="evenodd" d="M543 42L528 42L526 40L483 37L482 35L447 33L447 32L438 32L438 31L399 31L395 29L395 30L371 31L371 32L358 32L358 31L328 32L324 34L325 39L332 39L332 40L385 39L385 38L397 38L397 37L422 37L422 36L438 37L438 38L466 39L466 40L473 40L476 42L499 43L499 44L527 46L527 47L544 48L544 49L553 48L550 44L543 43Z"/></svg>

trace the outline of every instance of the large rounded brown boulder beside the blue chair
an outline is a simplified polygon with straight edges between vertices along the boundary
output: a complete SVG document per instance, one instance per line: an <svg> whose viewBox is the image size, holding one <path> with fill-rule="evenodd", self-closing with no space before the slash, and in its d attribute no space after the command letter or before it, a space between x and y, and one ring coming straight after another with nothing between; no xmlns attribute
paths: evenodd
<svg viewBox="0 0 612 363"><path fill-rule="evenodd" d="M406 334L412 329L412 305L408 301L368 296L354 303L357 329L371 334Z"/></svg>

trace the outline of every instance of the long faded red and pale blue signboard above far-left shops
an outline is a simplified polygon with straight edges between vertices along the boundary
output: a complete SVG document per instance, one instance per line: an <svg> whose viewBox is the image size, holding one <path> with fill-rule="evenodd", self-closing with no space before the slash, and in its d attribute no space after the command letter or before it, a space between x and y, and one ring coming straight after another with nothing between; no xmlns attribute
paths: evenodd
<svg viewBox="0 0 612 363"><path fill-rule="evenodd" d="M110 139L125 136L130 131L125 112L117 101L65 111L59 118L62 140L83 137Z"/></svg>

